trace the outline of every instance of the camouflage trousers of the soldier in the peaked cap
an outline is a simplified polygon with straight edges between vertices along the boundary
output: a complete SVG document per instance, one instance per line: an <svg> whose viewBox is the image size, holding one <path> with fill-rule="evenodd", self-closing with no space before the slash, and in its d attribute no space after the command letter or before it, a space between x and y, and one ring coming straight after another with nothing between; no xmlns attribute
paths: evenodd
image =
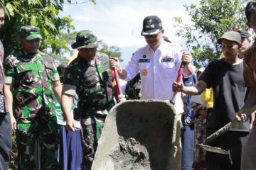
<svg viewBox="0 0 256 170"><path fill-rule="evenodd" d="M58 169L58 124L55 116L18 120L18 169Z"/></svg>

